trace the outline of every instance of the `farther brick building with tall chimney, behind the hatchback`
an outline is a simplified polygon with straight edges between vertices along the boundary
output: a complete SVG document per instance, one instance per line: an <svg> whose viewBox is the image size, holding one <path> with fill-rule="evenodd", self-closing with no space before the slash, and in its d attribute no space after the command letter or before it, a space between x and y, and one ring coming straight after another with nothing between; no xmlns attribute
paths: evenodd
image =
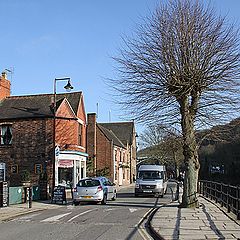
<svg viewBox="0 0 240 240"><path fill-rule="evenodd" d="M107 175L117 185L128 185L136 175L136 133L134 122L97 123L88 114L87 152L89 174Z"/></svg>

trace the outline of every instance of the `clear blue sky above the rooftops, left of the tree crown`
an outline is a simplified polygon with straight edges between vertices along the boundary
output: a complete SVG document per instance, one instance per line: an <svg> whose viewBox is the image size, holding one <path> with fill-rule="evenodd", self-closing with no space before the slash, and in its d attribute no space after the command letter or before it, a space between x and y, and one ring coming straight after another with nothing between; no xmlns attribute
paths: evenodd
<svg viewBox="0 0 240 240"><path fill-rule="evenodd" d="M131 120L111 100L105 79L115 76L112 57L122 37L160 1L167 0L0 0L0 71L12 71L11 95L53 93L55 78L70 77L98 122ZM211 4L240 23L240 0ZM57 82L57 93L63 86Z"/></svg>

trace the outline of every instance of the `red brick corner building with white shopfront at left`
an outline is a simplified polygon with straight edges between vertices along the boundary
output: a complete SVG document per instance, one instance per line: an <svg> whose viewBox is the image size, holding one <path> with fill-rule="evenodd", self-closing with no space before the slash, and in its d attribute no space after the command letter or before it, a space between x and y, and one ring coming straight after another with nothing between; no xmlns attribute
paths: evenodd
<svg viewBox="0 0 240 240"><path fill-rule="evenodd" d="M40 176L46 172L51 187L54 163L55 185L75 185L86 176L86 115L82 92L57 94L56 107L54 134L53 94L10 96L10 82L2 73L0 163L6 165L6 180L11 186L19 185L21 174L28 170L33 185L38 185Z"/></svg>

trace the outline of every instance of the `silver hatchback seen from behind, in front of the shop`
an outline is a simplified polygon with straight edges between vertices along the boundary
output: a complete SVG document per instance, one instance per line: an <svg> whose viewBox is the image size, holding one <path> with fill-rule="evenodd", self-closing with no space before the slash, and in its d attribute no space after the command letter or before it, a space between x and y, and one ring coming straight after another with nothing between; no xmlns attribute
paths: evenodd
<svg viewBox="0 0 240 240"><path fill-rule="evenodd" d="M115 200L117 191L115 184L106 177L81 179L73 191L73 204L96 202L106 204L107 200Z"/></svg>

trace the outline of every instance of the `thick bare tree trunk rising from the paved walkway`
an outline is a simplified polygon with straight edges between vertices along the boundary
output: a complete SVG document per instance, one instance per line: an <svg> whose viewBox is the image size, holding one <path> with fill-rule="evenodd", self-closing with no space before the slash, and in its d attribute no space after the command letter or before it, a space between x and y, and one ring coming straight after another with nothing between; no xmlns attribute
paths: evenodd
<svg viewBox="0 0 240 240"><path fill-rule="evenodd" d="M189 109L187 98L180 103L185 163L184 188L181 207L198 207L197 183L199 172L198 146L194 131L195 114Z"/></svg>

